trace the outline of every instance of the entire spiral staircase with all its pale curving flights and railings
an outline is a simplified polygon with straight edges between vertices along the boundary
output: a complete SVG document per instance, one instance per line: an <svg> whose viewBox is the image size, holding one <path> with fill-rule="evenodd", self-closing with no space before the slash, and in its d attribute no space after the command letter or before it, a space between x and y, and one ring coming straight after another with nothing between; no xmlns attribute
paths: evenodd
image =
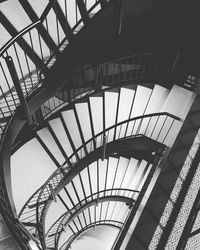
<svg viewBox="0 0 200 250"><path fill-rule="evenodd" d="M156 3L133 11L131 0L19 0L13 8L25 17L16 23L9 0L0 3L8 40L0 50L0 248L115 249L133 233L196 82L173 83L174 50L96 65L88 58ZM31 159L35 146L38 166L19 160L21 184L12 159L26 147Z"/></svg>

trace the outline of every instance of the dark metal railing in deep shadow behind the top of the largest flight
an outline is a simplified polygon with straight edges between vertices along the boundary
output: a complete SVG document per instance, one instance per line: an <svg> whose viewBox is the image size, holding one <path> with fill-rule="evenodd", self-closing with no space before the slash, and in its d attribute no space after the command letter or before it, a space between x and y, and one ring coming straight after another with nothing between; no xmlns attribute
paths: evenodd
<svg viewBox="0 0 200 250"><path fill-rule="evenodd" d="M174 70L178 51L157 51L140 53L114 59L95 66L85 66L73 75L71 85L75 87L113 85L132 80L165 81ZM162 63L161 63L162 62Z"/></svg>

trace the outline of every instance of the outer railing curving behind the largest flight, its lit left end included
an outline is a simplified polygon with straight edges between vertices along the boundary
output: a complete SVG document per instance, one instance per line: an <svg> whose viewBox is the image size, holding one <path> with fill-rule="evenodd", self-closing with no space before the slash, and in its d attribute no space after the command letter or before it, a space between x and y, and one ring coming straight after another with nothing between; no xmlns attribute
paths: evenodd
<svg viewBox="0 0 200 250"><path fill-rule="evenodd" d="M123 82L133 84L139 81L144 85L165 82L174 69L177 57L177 51L149 52L115 59L93 67L82 67L67 84L72 89L62 90L41 106L43 116L49 117L68 103L89 96L95 91L99 92L103 88L110 89L121 85Z"/></svg>

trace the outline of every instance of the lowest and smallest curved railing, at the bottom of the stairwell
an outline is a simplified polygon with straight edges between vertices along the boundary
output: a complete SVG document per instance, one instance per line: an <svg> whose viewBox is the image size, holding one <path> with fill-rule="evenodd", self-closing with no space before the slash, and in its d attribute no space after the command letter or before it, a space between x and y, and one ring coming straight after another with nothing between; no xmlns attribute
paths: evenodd
<svg viewBox="0 0 200 250"><path fill-rule="evenodd" d="M121 225L121 227L116 224ZM70 247L71 243L78 237L80 236L82 233L84 233L86 230L89 230L90 228L93 228L94 226L114 226L118 229L121 229L123 227L123 223L121 221L116 221L116 220L101 220L101 221L97 221L97 222L92 222L89 225L87 225L86 227L82 228L79 232L77 232L76 234L73 234L60 248L59 250L66 250L68 249L68 247Z"/></svg>

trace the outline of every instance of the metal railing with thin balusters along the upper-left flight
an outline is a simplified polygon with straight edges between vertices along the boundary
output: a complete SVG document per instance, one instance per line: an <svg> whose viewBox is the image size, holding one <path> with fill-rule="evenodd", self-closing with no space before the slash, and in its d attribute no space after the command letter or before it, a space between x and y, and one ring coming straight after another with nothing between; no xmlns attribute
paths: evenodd
<svg viewBox="0 0 200 250"><path fill-rule="evenodd" d="M92 18L102 6L101 0L94 0L92 4L85 1L84 16L78 2L74 0L69 4L68 0L50 1L35 23L24 28L0 49L0 136L20 105L6 58L12 58L25 97L41 87L45 74L57 56L86 25L85 16ZM41 30L45 35L42 35Z"/></svg>

